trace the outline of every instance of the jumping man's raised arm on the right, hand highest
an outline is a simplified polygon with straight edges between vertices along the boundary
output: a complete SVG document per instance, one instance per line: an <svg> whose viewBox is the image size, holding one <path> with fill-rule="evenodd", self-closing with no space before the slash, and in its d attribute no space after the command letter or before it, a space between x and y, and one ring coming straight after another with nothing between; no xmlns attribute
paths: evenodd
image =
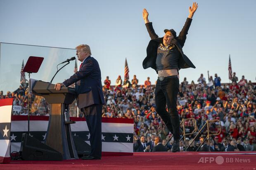
<svg viewBox="0 0 256 170"><path fill-rule="evenodd" d="M198 7L198 5L196 2L193 3L192 7L189 7L189 15L187 17L187 21L185 22L185 25L183 26L183 28L180 31L180 34L178 36L178 40L179 40L180 44L182 45L182 47L185 44L185 41L187 38L187 32L188 32L188 29L190 28L190 24L192 22L193 15L194 15L194 12L196 12L197 7Z"/></svg>

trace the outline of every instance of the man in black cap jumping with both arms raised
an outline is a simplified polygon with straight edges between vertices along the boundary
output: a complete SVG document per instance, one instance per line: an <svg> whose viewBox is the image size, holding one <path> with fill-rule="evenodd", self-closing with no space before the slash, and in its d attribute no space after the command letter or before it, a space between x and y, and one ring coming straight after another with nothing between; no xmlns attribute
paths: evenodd
<svg viewBox="0 0 256 170"><path fill-rule="evenodd" d="M189 16L183 29L176 37L175 30L164 30L164 37L156 35L152 23L148 20L148 12L143 10L143 19L151 38L147 46L147 57L143 61L143 68L153 68L158 74L155 89L156 112L161 116L167 128L173 134L174 142L172 152L179 151L180 118L177 111L177 95L179 91L178 70L181 68L195 68L193 63L183 54L186 35L197 3L189 7ZM168 112L166 111L166 104Z"/></svg>

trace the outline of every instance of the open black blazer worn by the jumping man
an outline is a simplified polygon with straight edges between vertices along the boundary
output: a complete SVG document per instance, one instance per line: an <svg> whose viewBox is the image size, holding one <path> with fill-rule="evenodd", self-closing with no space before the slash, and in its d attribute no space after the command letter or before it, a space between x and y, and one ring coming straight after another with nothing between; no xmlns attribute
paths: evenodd
<svg viewBox="0 0 256 170"><path fill-rule="evenodd" d="M186 38L187 38L187 32L190 28L190 24L192 22L192 19L187 18L187 21L185 22L185 25L183 26L182 30L180 31L180 34L178 37L173 39L171 41L171 44L175 44L175 46L178 48L180 54L182 57L180 57L178 61L178 69L181 68L196 68L194 64L190 61L189 58L185 54L183 54L182 48L185 44ZM157 56L157 48L159 47L160 43L163 43L163 38L159 38L158 35L155 33L154 28L152 26L152 22L146 23L147 32L149 33L149 36L151 40L149 41L149 44L147 46L147 57L144 59L142 65L143 68L153 68L156 70L156 56Z"/></svg>

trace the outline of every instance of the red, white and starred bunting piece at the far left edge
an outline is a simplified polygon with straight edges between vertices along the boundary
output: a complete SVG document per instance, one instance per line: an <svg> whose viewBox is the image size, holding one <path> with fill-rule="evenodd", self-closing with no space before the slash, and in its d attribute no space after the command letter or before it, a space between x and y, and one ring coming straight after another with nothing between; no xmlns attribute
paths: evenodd
<svg viewBox="0 0 256 170"><path fill-rule="evenodd" d="M10 163L10 133L13 98L0 99L0 163Z"/></svg>

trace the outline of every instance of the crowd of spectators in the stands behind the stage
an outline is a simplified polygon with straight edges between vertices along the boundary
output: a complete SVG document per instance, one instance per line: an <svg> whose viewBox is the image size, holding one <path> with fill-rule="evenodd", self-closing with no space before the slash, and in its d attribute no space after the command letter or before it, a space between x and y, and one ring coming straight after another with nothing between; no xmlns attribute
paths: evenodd
<svg viewBox="0 0 256 170"><path fill-rule="evenodd" d="M247 81L244 76L238 81L235 72L231 78L231 84L222 84L221 79L215 74L215 78L208 74L208 83L203 74L190 84L186 78L180 81L177 109L182 119L194 118L184 121L186 140L180 141L180 151L252 151L256 150L256 86ZM103 92L106 105L102 109L102 117L134 119L134 151L165 151L171 150L172 140L166 144L171 133L166 128L161 117L156 112L154 88L150 78L143 85L134 75L131 82L129 79L122 81L121 76L116 79L115 86L111 86L109 77L104 80ZM26 115L28 105L27 85L6 95L0 92L0 98L14 98L13 105L21 106L21 112L13 114ZM49 115L49 105L40 96L30 96L32 115ZM167 108L166 108L167 109ZM76 102L70 107L70 116L76 116ZM83 114L79 114L83 116ZM198 131L207 120L219 120L209 123L210 147L207 128L193 141ZM197 130L195 130L197 126ZM183 126L181 126L183 129ZM161 145L161 146L158 146ZM158 147L156 147L158 146Z"/></svg>

